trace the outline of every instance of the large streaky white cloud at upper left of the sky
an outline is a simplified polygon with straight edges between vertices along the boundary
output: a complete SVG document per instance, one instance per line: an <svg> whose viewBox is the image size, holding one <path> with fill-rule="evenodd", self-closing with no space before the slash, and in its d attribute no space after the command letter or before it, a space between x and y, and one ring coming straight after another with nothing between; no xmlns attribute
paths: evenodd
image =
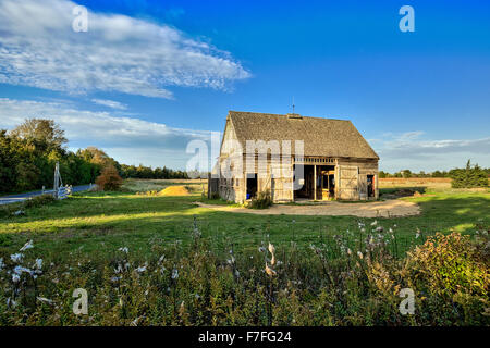
<svg viewBox="0 0 490 348"><path fill-rule="evenodd" d="M75 33L75 5L0 1L0 83L172 98L169 86L226 89L250 76L230 53L166 25L89 11L88 32Z"/></svg>

